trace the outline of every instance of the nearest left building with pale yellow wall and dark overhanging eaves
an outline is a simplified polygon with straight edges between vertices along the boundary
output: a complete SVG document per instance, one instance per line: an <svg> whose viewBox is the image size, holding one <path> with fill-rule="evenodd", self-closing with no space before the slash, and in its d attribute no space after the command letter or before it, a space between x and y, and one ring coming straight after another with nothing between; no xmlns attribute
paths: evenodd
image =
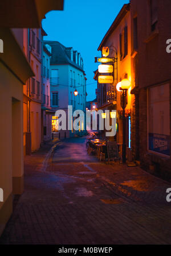
<svg viewBox="0 0 171 256"><path fill-rule="evenodd" d="M27 101L30 101L27 86L24 86L23 99L23 85L27 84L29 77L35 76L27 61L26 49L22 47L23 37L19 37L18 41L15 38L22 31L24 35L24 30L12 31L10 27L40 28L44 14L50 10L63 10L63 0L16 0L10 5L9 1L1 3L0 39L3 51L1 49L0 53L0 235L13 212L13 195L23 192L23 110L29 116L28 109L23 104L27 105ZM35 115L34 120L39 120L39 117ZM27 120L24 125L27 126Z"/></svg>

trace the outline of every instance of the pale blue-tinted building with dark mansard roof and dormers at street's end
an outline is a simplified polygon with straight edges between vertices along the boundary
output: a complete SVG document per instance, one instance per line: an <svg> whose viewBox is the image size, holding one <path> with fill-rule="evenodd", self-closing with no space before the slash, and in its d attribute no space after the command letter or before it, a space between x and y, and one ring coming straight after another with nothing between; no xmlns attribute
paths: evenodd
<svg viewBox="0 0 171 256"><path fill-rule="evenodd" d="M51 46L50 60L50 93L51 108L56 111L63 109L67 113L68 105L86 113L86 79L83 70L83 59L72 47L67 48L60 42L44 41L48 48ZM75 96L74 91L78 91ZM76 119L76 117L75 117ZM74 119L72 120L74 121ZM83 123L79 131L59 131L60 138L83 134ZM56 131L57 132L57 131Z"/></svg>

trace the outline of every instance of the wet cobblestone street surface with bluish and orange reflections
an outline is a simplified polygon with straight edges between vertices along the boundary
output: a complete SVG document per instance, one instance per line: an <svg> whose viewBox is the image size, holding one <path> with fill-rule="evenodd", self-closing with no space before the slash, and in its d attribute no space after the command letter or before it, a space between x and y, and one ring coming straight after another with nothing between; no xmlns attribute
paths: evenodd
<svg viewBox="0 0 171 256"><path fill-rule="evenodd" d="M1 244L170 244L170 183L87 155L86 137L25 158L25 192Z"/></svg>

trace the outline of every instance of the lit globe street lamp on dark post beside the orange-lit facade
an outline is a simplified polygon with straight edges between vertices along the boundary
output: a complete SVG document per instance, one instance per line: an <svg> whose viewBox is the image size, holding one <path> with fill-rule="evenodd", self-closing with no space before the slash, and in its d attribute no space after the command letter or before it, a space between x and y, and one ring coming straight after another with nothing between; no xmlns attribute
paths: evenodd
<svg viewBox="0 0 171 256"><path fill-rule="evenodd" d="M121 107L123 108L123 163L126 162L126 143L125 143L125 108L127 107L127 90L131 82L125 78L116 85L118 92L121 92Z"/></svg>

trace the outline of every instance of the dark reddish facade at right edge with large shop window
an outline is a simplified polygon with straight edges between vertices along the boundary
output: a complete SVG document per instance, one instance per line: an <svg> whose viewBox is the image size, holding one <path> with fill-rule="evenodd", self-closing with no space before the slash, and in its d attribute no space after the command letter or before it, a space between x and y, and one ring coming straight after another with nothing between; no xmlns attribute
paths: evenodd
<svg viewBox="0 0 171 256"><path fill-rule="evenodd" d="M170 176L170 1L131 0L136 157L141 166Z"/></svg>

